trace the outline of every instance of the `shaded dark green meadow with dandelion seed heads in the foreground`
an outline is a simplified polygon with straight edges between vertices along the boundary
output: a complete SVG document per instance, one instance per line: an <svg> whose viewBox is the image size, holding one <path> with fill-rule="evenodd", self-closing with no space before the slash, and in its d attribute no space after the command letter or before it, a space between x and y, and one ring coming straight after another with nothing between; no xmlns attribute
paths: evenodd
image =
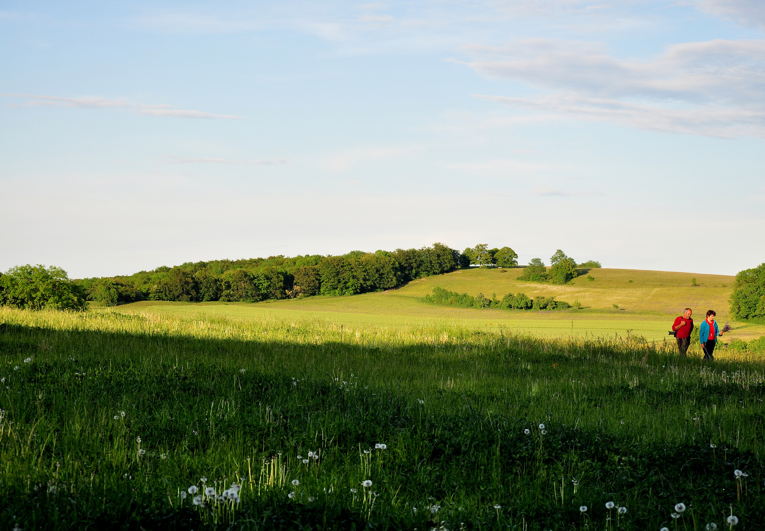
<svg viewBox="0 0 765 531"><path fill-rule="evenodd" d="M728 529L731 510L737 531L765 522L754 361L7 309L0 352L0 529L659 531ZM203 477L219 494L241 484L241 501L181 498ZM618 520L611 500L627 507Z"/></svg>

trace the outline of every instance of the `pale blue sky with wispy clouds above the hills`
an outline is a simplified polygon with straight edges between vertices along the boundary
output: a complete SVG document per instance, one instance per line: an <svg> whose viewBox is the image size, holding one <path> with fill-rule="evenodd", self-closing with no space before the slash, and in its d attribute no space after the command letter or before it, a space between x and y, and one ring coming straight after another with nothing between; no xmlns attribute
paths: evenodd
<svg viewBox="0 0 765 531"><path fill-rule="evenodd" d="M765 261L765 3L0 2L0 270Z"/></svg>

